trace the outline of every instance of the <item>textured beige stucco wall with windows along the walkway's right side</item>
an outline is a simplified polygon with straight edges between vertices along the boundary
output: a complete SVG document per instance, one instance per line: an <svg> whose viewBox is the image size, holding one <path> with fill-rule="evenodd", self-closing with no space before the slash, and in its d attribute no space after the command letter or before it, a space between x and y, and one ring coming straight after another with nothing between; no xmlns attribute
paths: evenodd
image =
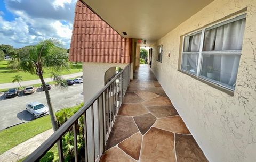
<svg viewBox="0 0 256 162"><path fill-rule="evenodd" d="M180 36L247 7L235 95L177 71ZM182 12L182 11L180 11ZM163 44L163 63L156 46ZM171 56L168 57L169 51ZM211 162L256 159L256 1L215 0L154 44L153 71Z"/></svg>

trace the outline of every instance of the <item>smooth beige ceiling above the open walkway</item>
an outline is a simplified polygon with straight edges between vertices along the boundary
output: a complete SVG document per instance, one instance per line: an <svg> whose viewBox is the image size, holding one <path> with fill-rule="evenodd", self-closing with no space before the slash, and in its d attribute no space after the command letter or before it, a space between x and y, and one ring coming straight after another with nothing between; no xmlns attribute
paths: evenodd
<svg viewBox="0 0 256 162"><path fill-rule="evenodd" d="M122 36L150 44L213 0L82 0Z"/></svg>

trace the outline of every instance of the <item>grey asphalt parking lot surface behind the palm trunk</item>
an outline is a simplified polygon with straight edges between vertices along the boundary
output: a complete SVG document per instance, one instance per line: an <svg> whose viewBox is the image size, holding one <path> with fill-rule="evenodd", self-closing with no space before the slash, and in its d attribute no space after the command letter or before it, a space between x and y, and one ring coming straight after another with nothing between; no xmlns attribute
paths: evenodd
<svg viewBox="0 0 256 162"><path fill-rule="evenodd" d="M6 98L4 93L0 93L0 130L15 124L34 120L34 117L26 112L26 104L38 101L47 106L45 92L41 88L35 91L35 93L28 95L20 92L19 96L13 98ZM83 102L83 84L74 84L65 89L52 86L49 92L55 111Z"/></svg>

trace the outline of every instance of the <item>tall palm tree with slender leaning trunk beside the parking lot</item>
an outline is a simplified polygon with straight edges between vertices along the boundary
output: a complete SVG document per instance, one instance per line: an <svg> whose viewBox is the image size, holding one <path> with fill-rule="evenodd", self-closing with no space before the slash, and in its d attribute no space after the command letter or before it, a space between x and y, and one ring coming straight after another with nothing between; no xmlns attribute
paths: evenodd
<svg viewBox="0 0 256 162"><path fill-rule="evenodd" d="M54 131L57 130L57 120L49 91L45 86L43 73L44 69L50 70L54 81L61 86L65 86L58 73L63 69L68 69L68 54L66 50L61 49L59 46L60 43L57 40L46 39L33 47L29 51L29 55L20 59L21 70L38 75L42 82Z"/></svg>

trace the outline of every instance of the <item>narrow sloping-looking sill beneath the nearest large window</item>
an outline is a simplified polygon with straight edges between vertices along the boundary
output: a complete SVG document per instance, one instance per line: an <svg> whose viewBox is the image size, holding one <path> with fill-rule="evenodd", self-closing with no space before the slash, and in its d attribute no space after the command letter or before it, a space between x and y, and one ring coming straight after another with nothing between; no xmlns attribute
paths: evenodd
<svg viewBox="0 0 256 162"><path fill-rule="evenodd" d="M181 73L183 73L183 74L189 75L189 76L191 76L192 78L194 78L194 79L196 79L196 80L199 80L199 81L201 81L201 82L203 82L203 83L205 83L205 84L207 84L207 85L209 85L209 86L211 86L211 87L213 87L213 88L216 88L216 89L218 89L218 90L220 90L220 91L222 91L222 92L225 92L225 93L227 93L227 94L230 95L230 96L234 96L234 94L235 94L233 90L230 90L230 89L227 89L227 88L225 88L225 87L219 86L218 84L215 84L215 83L213 83L213 82L207 81L207 80L205 80L205 79L203 79L203 78L199 78L199 77L197 77L197 76L195 76L195 75L193 75L193 74L190 74L190 73L188 73L188 72L186 72L186 71L183 71L183 70L180 70L180 69L178 69L178 71L181 72Z"/></svg>

